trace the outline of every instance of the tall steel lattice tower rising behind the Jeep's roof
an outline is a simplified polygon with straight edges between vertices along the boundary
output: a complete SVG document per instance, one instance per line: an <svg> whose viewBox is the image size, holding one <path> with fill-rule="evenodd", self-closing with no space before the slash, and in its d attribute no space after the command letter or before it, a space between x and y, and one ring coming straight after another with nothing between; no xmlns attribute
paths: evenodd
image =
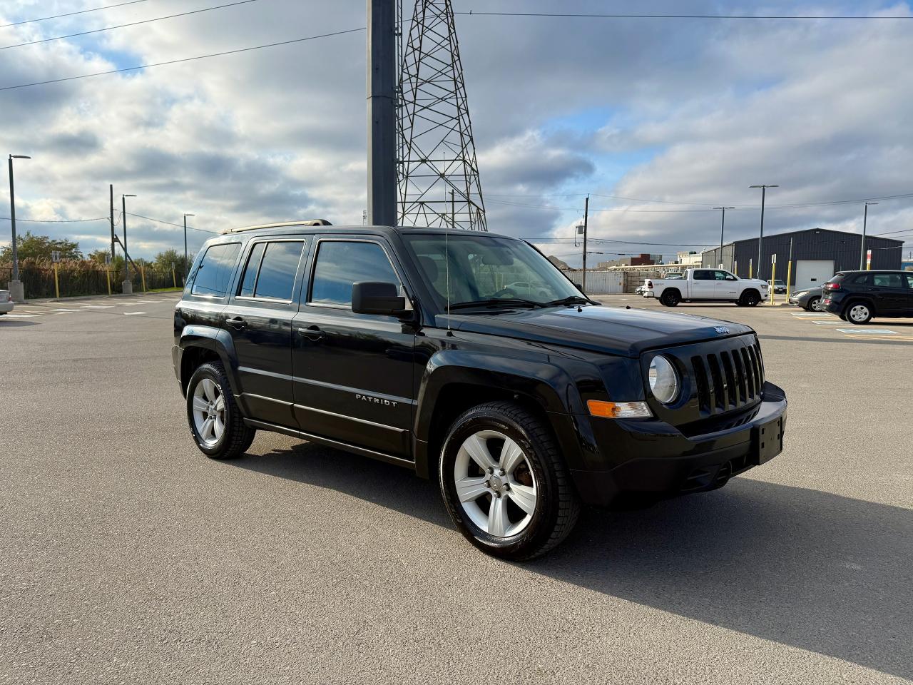
<svg viewBox="0 0 913 685"><path fill-rule="evenodd" d="M399 224L487 231L450 0L416 0L408 37L398 39Z"/></svg>

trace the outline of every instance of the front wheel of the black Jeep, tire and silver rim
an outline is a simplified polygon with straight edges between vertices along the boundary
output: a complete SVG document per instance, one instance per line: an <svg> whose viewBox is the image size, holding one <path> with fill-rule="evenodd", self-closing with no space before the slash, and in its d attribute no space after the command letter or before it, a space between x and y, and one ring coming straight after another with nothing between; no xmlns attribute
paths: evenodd
<svg viewBox="0 0 913 685"><path fill-rule="evenodd" d="M441 451L438 482L459 532L501 559L548 552L580 515L551 429L512 402L474 406L456 419Z"/></svg>

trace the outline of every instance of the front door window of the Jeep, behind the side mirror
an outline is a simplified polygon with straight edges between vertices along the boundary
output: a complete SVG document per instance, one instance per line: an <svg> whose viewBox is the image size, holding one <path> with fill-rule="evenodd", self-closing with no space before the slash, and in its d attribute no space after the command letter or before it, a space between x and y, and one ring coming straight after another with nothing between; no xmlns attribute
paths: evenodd
<svg viewBox="0 0 913 685"><path fill-rule="evenodd" d="M390 259L377 243L324 240L317 252L310 301L352 304L352 283L379 281L399 284Z"/></svg>

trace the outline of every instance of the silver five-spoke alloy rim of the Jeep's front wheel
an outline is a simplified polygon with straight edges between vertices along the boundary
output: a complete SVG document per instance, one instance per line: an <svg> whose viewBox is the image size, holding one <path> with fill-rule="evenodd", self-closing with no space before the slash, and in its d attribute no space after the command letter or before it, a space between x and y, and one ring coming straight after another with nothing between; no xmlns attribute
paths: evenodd
<svg viewBox="0 0 913 685"><path fill-rule="evenodd" d="M532 521L536 478L523 449L503 433L467 437L456 454L454 482L461 508L483 532L507 538Z"/></svg>

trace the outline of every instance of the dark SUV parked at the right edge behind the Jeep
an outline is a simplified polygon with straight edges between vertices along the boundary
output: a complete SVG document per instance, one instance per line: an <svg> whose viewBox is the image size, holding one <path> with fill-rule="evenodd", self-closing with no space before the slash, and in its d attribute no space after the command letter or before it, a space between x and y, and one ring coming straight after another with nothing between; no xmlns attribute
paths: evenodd
<svg viewBox="0 0 913 685"><path fill-rule="evenodd" d="M822 309L863 324L913 317L913 271L840 271L824 284Z"/></svg>

